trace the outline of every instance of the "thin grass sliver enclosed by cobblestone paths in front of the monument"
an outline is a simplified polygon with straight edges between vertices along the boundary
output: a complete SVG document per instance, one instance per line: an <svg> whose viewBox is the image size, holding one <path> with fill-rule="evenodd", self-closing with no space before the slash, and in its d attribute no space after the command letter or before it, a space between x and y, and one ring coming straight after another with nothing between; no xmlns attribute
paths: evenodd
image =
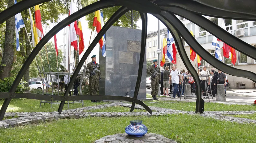
<svg viewBox="0 0 256 143"><path fill-rule="evenodd" d="M112 106L102 109L93 109L93 110L84 110L84 112L130 112L131 108L123 107L123 106ZM134 109L133 112L148 112L143 109Z"/></svg>

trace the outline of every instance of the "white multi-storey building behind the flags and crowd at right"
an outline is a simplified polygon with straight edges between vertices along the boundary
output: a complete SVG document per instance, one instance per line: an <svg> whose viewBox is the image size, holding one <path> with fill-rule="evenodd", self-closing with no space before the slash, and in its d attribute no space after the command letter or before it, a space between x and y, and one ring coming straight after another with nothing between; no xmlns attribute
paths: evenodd
<svg viewBox="0 0 256 143"><path fill-rule="evenodd" d="M187 29L190 31L190 21L186 20L180 16L176 16L176 17L179 18L180 21L184 24L184 26L187 27ZM208 18L210 21L214 22L215 24L217 24L219 26L221 25L221 18L213 18L213 17L208 17L208 16L205 16L205 17ZM227 31L230 28L231 34L240 38L244 42L249 43L250 45L256 47L256 22L255 21L224 19L224 22L225 22ZM200 28L199 26L195 25L194 23L192 23L192 29L193 29L194 37L197 40L197 42L200 43L201 46L205 48L205 50L207 50L209 53L214 55L215 54L214 47L211 46L213 35L210 34L209 32L207 32L206 30ZM152 61L153 59L157 59L157 55L156 55L157 46L154 44L155 40L157 40L157 31L149 33L147 35L147 59L150 61ZM222 47L223 42L219 42L219 45L220 45L220 47ZM184 48L186 50L188 57L190 57L190 47L185 41L184 41ZM178 56L180 56L180 55L178 55ZM236 51L236 64L235 65L231 64L230 59L223 57L223 52L222 52L222 59L225 64L232 66L234 68L237 68L237 69L243 69L243 70L248 70L248 71L252 71L252 72L255 72L255 70L256 70L256 65L255 65L256 60L252 59L238 51ZM168 60L166 59L166 61L168 61ZM198 68L197 63L195 64L195 62L197 62L197 61L192 62L190 60L190 62L193 65L195 65L196 68ZM169 64L169 62L166 62L166 65L172 66L172 63ZM208 66L208 63L205 62L204 60L201 60L200 67L202 67L204 65ZM181 69L186 70L183 62L181 61L181 63L180 63L178 58L177 58L177 68L179 70L181 70ZM218 67L216 67L216 68L218 68ZM249 79L246 79L243 77L233 77L228 74L227 74L227 76L228 76L228 81L230 83L231 88L246 88L246 89L254 88L254 89L256 89L255 83Z"/></svg>

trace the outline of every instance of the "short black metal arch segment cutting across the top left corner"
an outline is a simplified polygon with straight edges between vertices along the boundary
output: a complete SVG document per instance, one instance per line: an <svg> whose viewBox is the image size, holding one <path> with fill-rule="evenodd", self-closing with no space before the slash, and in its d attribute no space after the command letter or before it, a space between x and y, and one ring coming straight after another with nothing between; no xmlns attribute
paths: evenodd
<svg viewBox="0 0 256 143"><path fill-rule="evenodd" d="M32 6L36 6L38 4L49 1L51 0L23 0L21 2L18 2L0 13L0 24L5 22L7 19L11 18L15 14L18 14Z"/></svg>

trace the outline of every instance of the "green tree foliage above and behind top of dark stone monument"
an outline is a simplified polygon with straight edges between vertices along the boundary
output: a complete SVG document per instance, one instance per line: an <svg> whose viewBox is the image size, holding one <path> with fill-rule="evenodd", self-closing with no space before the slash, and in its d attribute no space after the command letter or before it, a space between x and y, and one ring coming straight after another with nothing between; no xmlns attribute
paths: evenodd
<svg viewBox="0 0 256 143"><path fill-rule="evenodd" d="M89 4L92 4L94 2L97 2L98 0L81 0L82 6L85 7ZM120 8L121 6L113 6L113 7L109 7L109 8L105 8L102 9L102 14L103 14L103 18L104 18L104 22L106 23L107 20ZM135 11L134 11L135 12ZM88 21L88 28L92 29L93 26L93 19L95 16L95 12L88 14L86 16L86 20ZM136 22L140 20L140 16L138 19L133 20L133 28L136 29L138 28ZM120 17L114 24L113 26L121 26L121 27L128 27L131 28L132 23L131 20L128 19L125 15L123 15L122 17ZM95 27L93 27L93 29L95 29Z"/></svg>

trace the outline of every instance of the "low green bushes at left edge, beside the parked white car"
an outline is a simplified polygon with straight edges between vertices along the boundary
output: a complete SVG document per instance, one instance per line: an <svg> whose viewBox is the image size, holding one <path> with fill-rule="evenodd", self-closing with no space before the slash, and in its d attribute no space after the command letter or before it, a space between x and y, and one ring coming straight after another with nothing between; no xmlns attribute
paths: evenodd
<svg viewBox="0 0 256 143"><path fill-rule="evenodd" d="M14 81L14 77L5 77L2 80L0 79L0 92L9 92L11 85ZM21 82L15 93L24 93L24 91L29 90L29 87L25 86L25 81Z"/></svg>

